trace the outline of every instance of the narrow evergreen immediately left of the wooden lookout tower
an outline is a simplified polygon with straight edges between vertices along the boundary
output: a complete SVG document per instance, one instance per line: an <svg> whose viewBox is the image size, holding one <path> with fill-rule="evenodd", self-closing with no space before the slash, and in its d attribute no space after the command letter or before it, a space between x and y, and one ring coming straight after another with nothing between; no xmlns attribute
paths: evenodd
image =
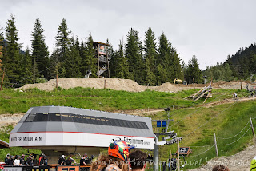
<svg viewBox="0 0 256 171"><path fill-rule="evenodd" d="M95 58L94 40L91 34L86 42L86 58L83 61L86 70L91 70L91 76L96 78L98 75L97 58Z"/></svg>

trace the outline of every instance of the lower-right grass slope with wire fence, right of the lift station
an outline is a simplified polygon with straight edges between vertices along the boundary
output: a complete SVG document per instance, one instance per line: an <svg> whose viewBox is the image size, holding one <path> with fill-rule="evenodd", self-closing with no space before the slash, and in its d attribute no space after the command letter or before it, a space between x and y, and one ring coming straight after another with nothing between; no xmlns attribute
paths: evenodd
<svg viewBox="0 0 256 171"><path fill-rule="evenodd" d="M178 133L179 137L182 136L184 138L180 142L180 146L191 146L193 151L190 157L186 157L186 161L189 165L187 165L184 170L194 169L198 167L198 163L202 165L206 163L206 161L210 161L211 158L216 157L214 147L210 149L211 146L195 146L213 145L214 133L216 133L217 137L233 137L245 127L250 117L256 117L255 111L256 101L217 105L212 108L174 110L172 112L175 114L172 117L174 118L174 123L172 123L174 126L172 126L171 129ZM151 117L154 119L166 118L166 113ZM206 123L206 125L203 125L204 123ZM255 127L256 119L253 119L253 123ZM198 129L201 125L203 126ZM195 129L197 130L192 133ZM247 133L246 130L248 130ZM236 137L230 139L217 138L219 157L238 153L252 143L252 138L253 134L250 129L250 124ZM162 137L158 139L161 141ZM233 143L234 141L235 143ZM210 150L203 153L207 149ZM175 153L177 144L165 145L159 148L159 156L162 161L166 161L169 158L170 150L172 153ZM198 155L200 153L202 153L202 155Z"/></svg>

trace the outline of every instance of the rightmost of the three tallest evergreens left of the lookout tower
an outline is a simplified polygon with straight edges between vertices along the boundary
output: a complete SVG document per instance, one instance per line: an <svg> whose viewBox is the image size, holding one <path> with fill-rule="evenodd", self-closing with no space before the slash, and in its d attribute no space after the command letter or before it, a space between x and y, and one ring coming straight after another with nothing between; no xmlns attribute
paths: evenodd
<svg viewBox="0 0 256 171"><path fill-rule="evenodd" d="M62 23L58 26L58 33L55 37L56 46L58 51L58 73L59 77L65 77L67 69L65 68L65 62L67 60L67 55L69 52L69 44L70 44L70 31L68 31L68 27L66 24L66 19L62 19Z"/></svg>

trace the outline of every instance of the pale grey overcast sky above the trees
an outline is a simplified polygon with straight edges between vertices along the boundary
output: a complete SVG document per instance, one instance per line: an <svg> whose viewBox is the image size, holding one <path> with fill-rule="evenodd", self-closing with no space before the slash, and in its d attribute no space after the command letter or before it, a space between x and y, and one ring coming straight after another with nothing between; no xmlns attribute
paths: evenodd
<svg viewBox="0 0 256 171"><path fill-rule="evenodd" d="M51 54L62 18L80 40L91 33L97 42L108 38L114 49L131 27L144 41L151 26L157 43L164 32L186 64L195 54L204 70L256 42L255 7L254 0L0 0L0 27L14 14L25 50L40 18Z"/></svg>

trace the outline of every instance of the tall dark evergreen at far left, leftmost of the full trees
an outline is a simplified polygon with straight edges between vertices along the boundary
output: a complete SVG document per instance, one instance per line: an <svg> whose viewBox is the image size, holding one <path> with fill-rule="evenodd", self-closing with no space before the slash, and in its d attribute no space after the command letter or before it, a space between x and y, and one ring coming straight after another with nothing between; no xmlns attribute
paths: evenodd
<svg viewBox="0 0 256 171"><path fill-rule="evenodd" d="M2 63L6 69L6 82L16 83L22 73L21 58L18 44L18 30L15 26L15 17L10 15L10 20L6 22L6 52L3 54ZM15 84L12 84L15 85Z"/></svg>

